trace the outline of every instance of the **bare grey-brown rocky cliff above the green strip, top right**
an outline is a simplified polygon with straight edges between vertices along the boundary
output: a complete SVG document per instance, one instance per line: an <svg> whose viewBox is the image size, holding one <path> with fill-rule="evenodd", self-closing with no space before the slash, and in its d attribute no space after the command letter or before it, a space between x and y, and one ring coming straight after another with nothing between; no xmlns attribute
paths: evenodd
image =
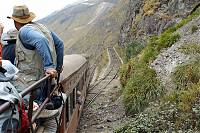
<svg viewBox="0 0 200 133"><path fill-rule="evenodd" d="M119 44L124 46L134 39L159 35L180 22L199 4L199 0L130 0Z"/></svg>

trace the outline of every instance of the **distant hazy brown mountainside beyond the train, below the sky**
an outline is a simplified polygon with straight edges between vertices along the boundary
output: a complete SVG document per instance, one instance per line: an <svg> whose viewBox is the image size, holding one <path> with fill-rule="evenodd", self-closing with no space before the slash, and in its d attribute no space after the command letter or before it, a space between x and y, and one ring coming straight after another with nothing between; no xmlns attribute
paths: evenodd
<svg viewBox="0 0 200 133"><path fill-rule="evenodd" d="M88 0L66 6L40 22L64 40L65 53L93 55L117 43L125 4L120 0Z"/></svg>

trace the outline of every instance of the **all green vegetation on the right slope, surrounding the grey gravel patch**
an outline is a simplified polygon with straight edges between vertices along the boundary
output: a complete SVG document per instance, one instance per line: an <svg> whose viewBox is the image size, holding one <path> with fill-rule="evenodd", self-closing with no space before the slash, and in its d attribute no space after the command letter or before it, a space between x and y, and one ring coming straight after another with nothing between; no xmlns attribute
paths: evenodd
<svg viewBox="0 0 200 133"><path fill-rule="evenodd" d="M199 14L200 8L180 23L168 28L160 36L149 38L146 47L139 54L133 54L135 57L131 56L131 59L124 64L120 77L125 106L129 114L139 114L131 122L116 130L116 133L200 130L200 63L194 60L178 66L172 74L177 90L166 95L163 95L165 91L157 80L155 71L149 68L149 64L162 49L170 47L179 40L180 35L176 31ZM195 30L196 28L193 28L191 32ZM200 46L185 45L180 51L198 55ZM155 101L157 102L153 103Z"/></svg>

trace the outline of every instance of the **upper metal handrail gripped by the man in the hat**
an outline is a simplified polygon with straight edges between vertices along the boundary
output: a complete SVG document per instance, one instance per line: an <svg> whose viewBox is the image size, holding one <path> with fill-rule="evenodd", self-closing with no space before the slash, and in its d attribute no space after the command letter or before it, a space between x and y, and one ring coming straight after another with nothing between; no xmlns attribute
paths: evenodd
<svg viewBox="0 0 200 133"><path fill-rule="evenodd" d="M32 84L31 86L29 86L27 89L23 90L22 92L20 92L20 95L22 97L26 96L27 94L31 93L32 91L35 91L37 88L37 86L42 83L43 81L47 80L48 78L50 78L50 75L46 75L45 77L43 77L42 79L38 80L37 82L35 82L34 84ZM17 103L17 100L14 100L14 103ZM0 115L5 112L7 109L10 108L11 106L11 102L5 102L4 104L2 104L0 106Z"/></svg>

